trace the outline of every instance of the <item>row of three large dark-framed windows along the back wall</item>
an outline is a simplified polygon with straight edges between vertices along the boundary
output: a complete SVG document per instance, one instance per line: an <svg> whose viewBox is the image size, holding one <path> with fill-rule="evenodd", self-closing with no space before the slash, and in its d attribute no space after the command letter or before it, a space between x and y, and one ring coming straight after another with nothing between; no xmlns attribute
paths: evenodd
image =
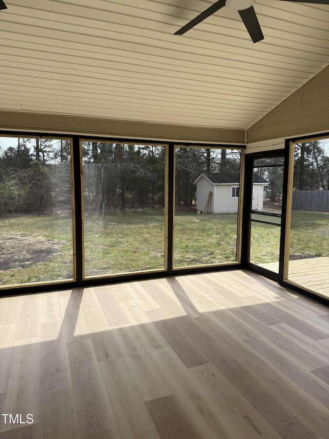
<svg viewBox="0 0 329 439"><path fill-rule="evenodd" d="M0 289L240 262L242 150L8 132Z"/></svg>

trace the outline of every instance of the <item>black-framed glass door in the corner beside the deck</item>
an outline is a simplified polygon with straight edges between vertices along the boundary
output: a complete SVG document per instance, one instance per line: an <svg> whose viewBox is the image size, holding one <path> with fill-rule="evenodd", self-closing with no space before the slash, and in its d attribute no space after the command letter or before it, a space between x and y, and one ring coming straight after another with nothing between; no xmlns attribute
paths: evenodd
<svg viewBox="0 0 329 439"><path fill-rule="evenodd" d="M246 172L246 262L279 273L284 151L249 156ZM259 271L259 270L257 270ZM272 277L277 277L276 275Z"/></svg>

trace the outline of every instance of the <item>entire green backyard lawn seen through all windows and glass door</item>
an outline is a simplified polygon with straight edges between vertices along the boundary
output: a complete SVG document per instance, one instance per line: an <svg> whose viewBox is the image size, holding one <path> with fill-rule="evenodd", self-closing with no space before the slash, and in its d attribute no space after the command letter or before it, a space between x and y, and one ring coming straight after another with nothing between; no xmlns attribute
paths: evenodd
<svg viewBox="0 0 329 439"><path fill-rule="evenodd" d="M86 276L163 269L164 224L163 211L128 211L103 218L86 215ZM252 261L261 264L278 260L280 227L253 224L257 226L252 235ZM72 278L71 231L70 216L0 219L0 284ZM328 256L328 249L329 215L293 212L291 254ZM236 214L176 215L176 268L232 262L235 252Z"/></svg>

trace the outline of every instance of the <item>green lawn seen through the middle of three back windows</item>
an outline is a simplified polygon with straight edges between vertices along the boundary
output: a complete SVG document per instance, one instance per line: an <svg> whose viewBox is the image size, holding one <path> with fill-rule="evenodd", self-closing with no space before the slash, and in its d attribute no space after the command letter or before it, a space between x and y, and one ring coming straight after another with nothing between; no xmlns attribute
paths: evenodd
<svg viewBox="0 0 329 439"><path fill-rule="evenodd" d="M163 269L164 212L86 215L86 276Z"/></svg>

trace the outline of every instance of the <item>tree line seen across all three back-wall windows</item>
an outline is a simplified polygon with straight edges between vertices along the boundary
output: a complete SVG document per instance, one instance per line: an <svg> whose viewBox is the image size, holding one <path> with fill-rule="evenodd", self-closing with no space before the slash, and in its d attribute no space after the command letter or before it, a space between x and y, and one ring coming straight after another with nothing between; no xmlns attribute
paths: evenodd
<svg viewBox="0 0 329 439"><path fill-rule="evenodd" d="M202 172L240 172L240 151L175 149L176 206L195 203ZM157 145L82 142L86 212L165 206L166 149ZM51 214L71 203L70 142L45 138L0 139L0 213Z"/></svg>

